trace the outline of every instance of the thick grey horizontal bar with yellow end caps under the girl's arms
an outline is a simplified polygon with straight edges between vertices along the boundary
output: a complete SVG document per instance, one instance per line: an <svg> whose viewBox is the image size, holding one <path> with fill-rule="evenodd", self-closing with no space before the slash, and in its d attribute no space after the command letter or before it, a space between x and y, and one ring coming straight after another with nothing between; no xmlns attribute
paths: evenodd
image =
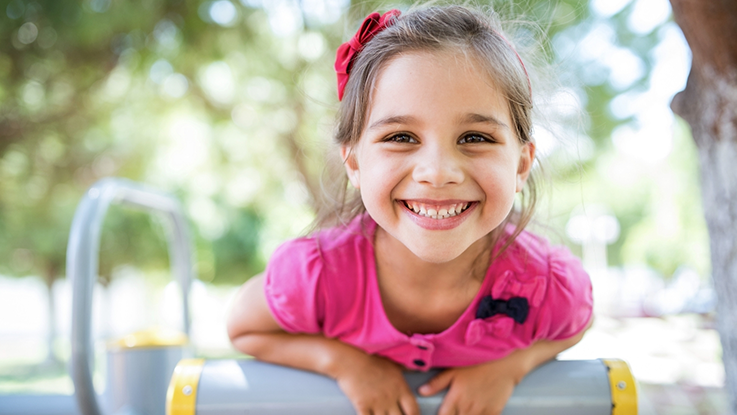
<svg viewBox="0 0 737 415"><path fill-rule="evenodd" d="M437 373L406 372L405 379L417 390ZM422 414L437 413L443 396L417 396ZM167 394L167 415L353 413L335 381L255 360L182 360ZM548 362L527 375L503 415L636 413L636 385L626 363L571 360Z"/></svg>

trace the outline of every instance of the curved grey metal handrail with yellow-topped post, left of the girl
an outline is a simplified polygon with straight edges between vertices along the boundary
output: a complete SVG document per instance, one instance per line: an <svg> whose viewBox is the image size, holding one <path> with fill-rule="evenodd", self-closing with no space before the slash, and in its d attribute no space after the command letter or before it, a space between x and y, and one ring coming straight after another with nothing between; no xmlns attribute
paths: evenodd
<svg viewBox="0 0 737 415"><path fill-rule="evenodd" d="M108 382L104 413L162 414L169 378L185 357L189 333L189 286L192 252L187 222L179 202L168 195L122 179L103 179L84 195L72 221L67 246L67 276L72 279L72 366L75 396L84 415L101 415L92 384L94 356L90 326L92 292L98 272L100 233L111 203L160 213L169 222L169 255L182 288L184 333L150 330L108 346Z"/></svg>

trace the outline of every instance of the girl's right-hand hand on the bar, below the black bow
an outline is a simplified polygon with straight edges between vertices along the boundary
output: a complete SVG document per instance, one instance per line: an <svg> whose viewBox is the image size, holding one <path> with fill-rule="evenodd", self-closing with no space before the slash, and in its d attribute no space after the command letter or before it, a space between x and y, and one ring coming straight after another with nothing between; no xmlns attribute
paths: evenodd
<svg viewBox="0 0 737 415"><path fill-rule="evenodd" d="M504 410L524 371L515 356L475 366L447 369L419 389L430 396L450 387L438 415L498 415Z"/></svg>

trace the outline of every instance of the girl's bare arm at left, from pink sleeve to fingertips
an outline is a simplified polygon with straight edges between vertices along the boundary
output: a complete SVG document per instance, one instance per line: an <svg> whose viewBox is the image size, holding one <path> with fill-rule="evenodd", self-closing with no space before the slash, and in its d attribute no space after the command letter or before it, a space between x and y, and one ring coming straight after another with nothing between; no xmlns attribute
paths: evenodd
<svg viewBox="0 0 737 415"><path fill-rule="evenodd" d="M262 275L236 294L227 329L233 346L243 353L335 379L358 414L420 413L396 363L319 334L282 330L266 304Z"/></svg>

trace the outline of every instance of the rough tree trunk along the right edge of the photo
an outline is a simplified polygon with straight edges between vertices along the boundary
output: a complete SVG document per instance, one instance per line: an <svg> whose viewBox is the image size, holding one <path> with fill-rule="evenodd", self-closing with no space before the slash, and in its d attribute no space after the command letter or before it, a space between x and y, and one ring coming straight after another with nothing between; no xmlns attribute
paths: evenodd
<svg viewBox="0 0 737 415"><path fill-rule="evenodd" d="M671 107L691 125L699 151L725 387L737 414L737 2L671 4L693 54L686 88Z"/></svg>

